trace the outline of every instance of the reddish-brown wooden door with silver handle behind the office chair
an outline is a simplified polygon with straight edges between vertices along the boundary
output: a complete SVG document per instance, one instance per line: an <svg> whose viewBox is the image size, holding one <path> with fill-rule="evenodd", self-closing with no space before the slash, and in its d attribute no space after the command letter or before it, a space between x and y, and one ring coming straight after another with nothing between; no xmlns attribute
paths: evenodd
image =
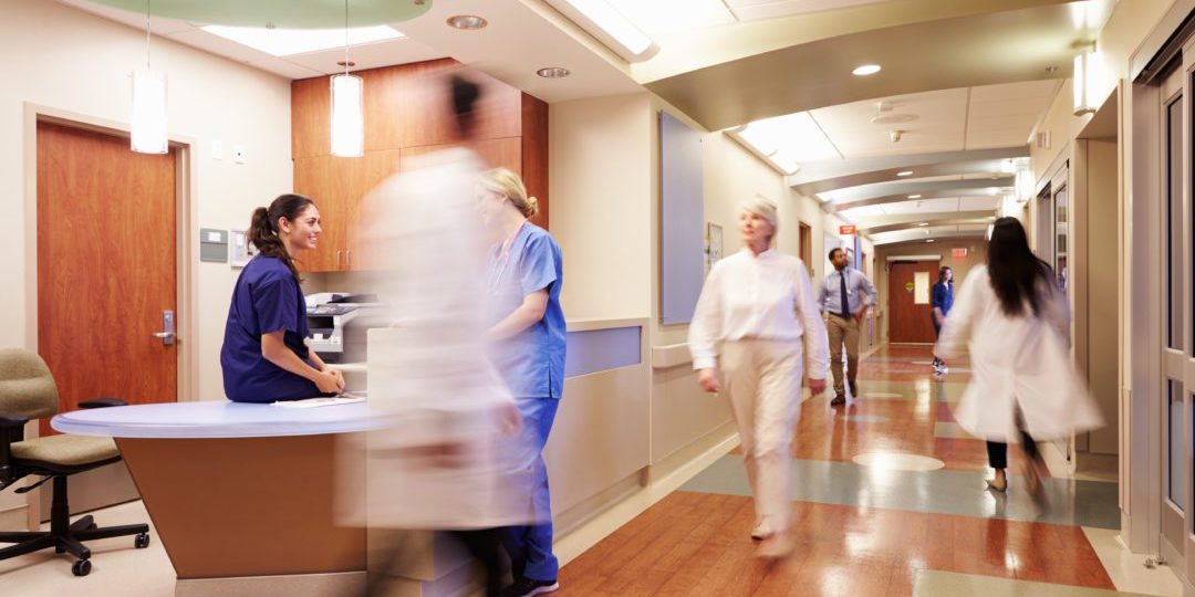
<svg viewBox="0 0 1195 597"><path fill-rule="evenodd" d="M37 124L37 349L60 411L177 400L177 345L153 336L177 308L176 159Z"/></svg>

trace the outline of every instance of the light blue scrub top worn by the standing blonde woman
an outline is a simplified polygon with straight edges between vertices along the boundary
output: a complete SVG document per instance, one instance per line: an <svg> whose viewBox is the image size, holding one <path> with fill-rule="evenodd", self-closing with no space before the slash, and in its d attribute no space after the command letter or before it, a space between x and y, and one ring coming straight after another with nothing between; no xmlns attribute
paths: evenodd
<svg viewBox="0 0 1195 597"><path fill-rule="evenodd" d="M562 267L560 246L547 230L531 222L515 234L508 257L501 256L501 245L490 251L486 272L491 325L519 308L527 295L547 289L544 318L491 349L494 364L515 398L559 399L564 392Z"/></svg>

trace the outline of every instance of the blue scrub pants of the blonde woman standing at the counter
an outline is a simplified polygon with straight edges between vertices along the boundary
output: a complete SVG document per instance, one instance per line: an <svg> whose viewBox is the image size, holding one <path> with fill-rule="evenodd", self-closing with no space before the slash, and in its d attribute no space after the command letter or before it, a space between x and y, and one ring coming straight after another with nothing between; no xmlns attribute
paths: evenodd
<svg viewBox="0 0 1195 597"><path fill-rule="evenodd" d="M556 408L560 401L554 398L516 399L522 416L522 450L527 454L527 468L532 476L532 507L537 521L527 527L508 527L502 534L502 543L510 554L515 572L522 568L522 577L532 580L556 580L559 562L552 554L552 500L547 490L547 468L544 466L544 445L556 420Z"/></svg>

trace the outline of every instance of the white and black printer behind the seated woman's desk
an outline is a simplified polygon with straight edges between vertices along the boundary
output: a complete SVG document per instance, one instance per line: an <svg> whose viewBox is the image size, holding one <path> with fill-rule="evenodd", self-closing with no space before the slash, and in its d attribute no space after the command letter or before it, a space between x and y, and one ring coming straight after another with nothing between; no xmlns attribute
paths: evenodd
<svg viewBox="0 0 1195 597"><path fill-rule="evenodd" d="M307 295L311 350L325 363L363 363L366 331L379 325L374 295L318 293Z"/></svg>

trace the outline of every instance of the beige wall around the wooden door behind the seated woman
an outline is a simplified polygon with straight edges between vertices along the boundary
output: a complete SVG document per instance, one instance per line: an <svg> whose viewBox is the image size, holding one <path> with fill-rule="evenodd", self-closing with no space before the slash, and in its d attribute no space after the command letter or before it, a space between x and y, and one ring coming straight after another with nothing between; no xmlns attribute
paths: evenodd
<svg viewBox="0 0 1195 597"><path fill-rule="evenodd" d="M0 261L0 278L6 281L0 293L0 346L35 347L36 203L26 202L25 189L36 161L25 155L25 105L96 122L128 122L129 73L143 64L145 33L43 0L0 0L0 14L6 81L0 86L0 209L10 224L0 235L0 253L6 256ZM247 226L253 205L290 190L289 84L159 38L153 41L153 59L170 81L171 134L198 141L191 171L197 192L191 197L191 228ZM245 146L249 162L206 158L214 140L222 141L226 152L233 144ZM112 198L112 205L120 209L120 198ZM180 338L198 361L198 396L191 398L219 399L223 396L220 343L237 271L226 264L194 264L191 271L197 336ZM11 491L0 493L0 511L24 501Z"/></svg>

